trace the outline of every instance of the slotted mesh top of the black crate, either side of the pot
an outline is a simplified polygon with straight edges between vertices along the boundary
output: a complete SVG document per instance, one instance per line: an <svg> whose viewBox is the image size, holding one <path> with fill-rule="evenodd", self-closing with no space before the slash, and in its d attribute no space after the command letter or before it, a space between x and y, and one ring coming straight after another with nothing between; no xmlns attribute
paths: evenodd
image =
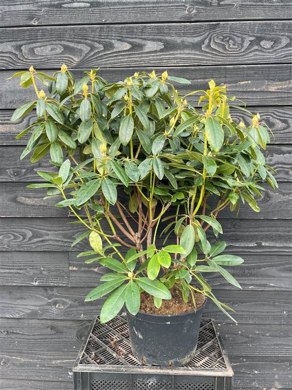
<svg viewBox="0 0 292 390"><path fill-rule="evenodd" d="M97 320L88 339L80 364L143 366L132 353L127 319L117 316L104 324ZM202 318L196 354L185 367L204 369L227 368L213 323L209 318ZM141 386L143 385L144 387L135 388L139 390L147 388L145 387L145 382L142 383ZM197 390L194 385L194 383L186 383L186 386L189 387L185 388ZM213 388L211 384L201 384L200 386L205 387L198 387L198 390L212 390ZM155 389L156 387L152 388ZM160 390L160 387L157 388ZM94 387L93 390L95 390Z"/></svg>

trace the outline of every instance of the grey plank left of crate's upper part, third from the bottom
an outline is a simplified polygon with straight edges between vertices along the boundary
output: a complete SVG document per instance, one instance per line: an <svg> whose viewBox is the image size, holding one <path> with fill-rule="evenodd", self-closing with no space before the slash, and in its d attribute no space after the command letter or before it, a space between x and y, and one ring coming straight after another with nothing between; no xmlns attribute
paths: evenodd
<svg viewBox="0 0 292 390"><path fill-rule="evenodd" d="M78 354L90 321L0 318L2 350L58 351Z"/></svg>

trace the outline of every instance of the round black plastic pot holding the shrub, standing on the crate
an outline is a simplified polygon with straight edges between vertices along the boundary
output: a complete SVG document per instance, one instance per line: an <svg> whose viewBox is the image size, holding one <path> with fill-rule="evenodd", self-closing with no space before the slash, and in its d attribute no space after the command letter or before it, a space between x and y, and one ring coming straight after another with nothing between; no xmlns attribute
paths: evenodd
<svg viewBox="0 0 292 390"><path fill-rule="evenodd" d="M179 367L189 363L197 348L205 303L196 311L157 315L127 310L132 352L146 365Z"/></svg>

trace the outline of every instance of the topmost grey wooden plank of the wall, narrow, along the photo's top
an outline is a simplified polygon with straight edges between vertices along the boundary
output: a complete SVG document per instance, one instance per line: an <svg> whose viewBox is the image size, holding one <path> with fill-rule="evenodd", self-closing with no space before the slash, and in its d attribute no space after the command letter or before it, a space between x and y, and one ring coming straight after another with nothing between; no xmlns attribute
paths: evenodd
<svg viewBox="0 0 292 390"><path fill-rule="evenodd" d="M289 2L252 0L216 2L197 0L106 0L102 2L73 2L72 0L9 0L1 2L1 25L36 26L63 24L104 24L201 20L289 19Z"/></svg>

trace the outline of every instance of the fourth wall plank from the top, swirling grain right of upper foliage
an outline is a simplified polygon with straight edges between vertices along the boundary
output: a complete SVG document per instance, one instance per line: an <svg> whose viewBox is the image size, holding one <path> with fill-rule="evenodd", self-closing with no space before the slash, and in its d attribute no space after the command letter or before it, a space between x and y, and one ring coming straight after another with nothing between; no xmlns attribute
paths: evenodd
<svg viewBox="0 0 292 390"><path fill-rule="evenodd" d="M259 113L261 120L273 131L275 137L271 137L272 144L292 143L292 107L250 107L249 109L253 113ZM233 110L231 110L232 112ZM33 122L35 116L33 113L30 113L27 118L15 124L10 122L12 113L12 110L0 110L0 143L2 146L26 145L29 134L17 141L15 137ZM237 110L234 118L238 122L243 121L246 124L250 122L249 116L243 111L239 112Z"/></svg>

